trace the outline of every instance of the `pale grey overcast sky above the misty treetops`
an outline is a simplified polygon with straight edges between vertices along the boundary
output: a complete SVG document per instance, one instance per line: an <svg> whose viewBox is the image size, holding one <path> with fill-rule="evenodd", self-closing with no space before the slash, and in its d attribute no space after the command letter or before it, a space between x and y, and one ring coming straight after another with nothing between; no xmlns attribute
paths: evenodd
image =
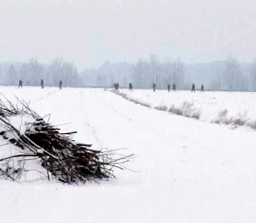
<svg viewBox="0 0 256 223"><path fill-rule="evenodd" d="M0 0L0 61L252 61L255 13L255 0Z"/></svg>

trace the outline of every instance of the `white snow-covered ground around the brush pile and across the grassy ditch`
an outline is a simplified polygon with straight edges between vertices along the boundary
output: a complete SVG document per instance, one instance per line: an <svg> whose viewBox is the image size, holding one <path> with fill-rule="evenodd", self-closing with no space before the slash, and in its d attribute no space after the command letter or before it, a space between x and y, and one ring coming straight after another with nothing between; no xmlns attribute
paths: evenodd
<svg viewBox="0 0 256 223"><path fill-rule="evenodd" d="M254 107L252 93L122 91L153 106L194 99L202 107L200 119L208 121L223 109L236 115L235 109ZM256 221L255 131L149 109L104 89L0 92L13 102L13 94L30 100L40 115L51 113L55 125L70 123L62 128L77 130L79 142L136 154L131 170L117 170L116 179L100 185L0 181L0 222Z"/></svg>

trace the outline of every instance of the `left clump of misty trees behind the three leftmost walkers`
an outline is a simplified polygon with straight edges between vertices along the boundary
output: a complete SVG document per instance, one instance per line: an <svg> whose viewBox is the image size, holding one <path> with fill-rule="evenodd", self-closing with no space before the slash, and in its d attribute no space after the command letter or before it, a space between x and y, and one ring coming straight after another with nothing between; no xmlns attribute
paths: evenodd
<svg viewBox="0 0 256 223"><path fill-rule="evenodd" d="M65 86L79 85L79 72L72 63L64 62L57 57L50 64L39 63L36 58L28 63L0 63L0 84L18 85L19 80L24 86L39 86L41 79L45 86L59 86L59 81L65 81Z"/></svg>

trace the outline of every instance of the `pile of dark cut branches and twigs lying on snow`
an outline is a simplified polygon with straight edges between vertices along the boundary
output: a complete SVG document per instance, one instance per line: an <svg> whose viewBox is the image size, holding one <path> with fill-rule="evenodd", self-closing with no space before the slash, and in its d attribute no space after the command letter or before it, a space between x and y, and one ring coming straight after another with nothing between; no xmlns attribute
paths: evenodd
<svg viewBox="0 0 256 223"><path fill-rule="evenodd" d="M0 152L0 177L18 181L29 171L26 162L33 159L39 161L49 180L85 183L115 177L113 168L123 169L133 156L113 158L114 151L94 150L91 144L77 143L72 139L76 132L61 133L25 102L19 104L21 108L0 101L0 137L20 148L15 155L3 157Z"/></svg>

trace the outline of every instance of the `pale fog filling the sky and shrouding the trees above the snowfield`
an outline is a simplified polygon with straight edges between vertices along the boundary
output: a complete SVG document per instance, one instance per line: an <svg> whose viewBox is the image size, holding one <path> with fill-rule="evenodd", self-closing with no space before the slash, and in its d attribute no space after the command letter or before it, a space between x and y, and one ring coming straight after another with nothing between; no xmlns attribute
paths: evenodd
<svg viewBox="0 0 256 223"><path fill-rule="evenodd" d="M255 8L254 0L1 1L0 82L255 90Z"/></svg>

